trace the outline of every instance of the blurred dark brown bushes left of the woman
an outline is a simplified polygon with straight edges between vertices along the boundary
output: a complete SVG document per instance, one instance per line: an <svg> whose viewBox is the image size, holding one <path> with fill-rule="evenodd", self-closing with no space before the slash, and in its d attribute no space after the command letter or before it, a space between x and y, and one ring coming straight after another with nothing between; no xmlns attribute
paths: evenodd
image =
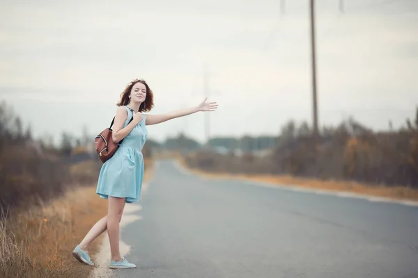
<svg viewBox="0 0 418 278"><path fill-rule="evenodd" d="M62 139L61 145L55 146L51 136L33 138L31 126L24 126L6 101L0 103L0 209L46 202L68 186L95 181L98 158L91 159L82 150L82 159L69 159L77 155L84 138L63 133ZM74 162L89 159L92 163L74 171Z"/></svg>

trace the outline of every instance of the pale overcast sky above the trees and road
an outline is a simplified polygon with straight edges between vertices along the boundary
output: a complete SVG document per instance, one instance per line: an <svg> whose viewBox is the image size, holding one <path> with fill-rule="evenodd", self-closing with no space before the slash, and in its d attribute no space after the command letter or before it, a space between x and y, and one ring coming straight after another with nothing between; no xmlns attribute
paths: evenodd
<svg viewBox="0 0 418 278"><path fill-rule="evenodd" d="M418 1L318 0L319 124L344 117L397 127L418 105ZM277 135L311 124L308 0L0 0L0 100L34 136L95 136L125 85L148 82L164 113L203 100L209 69L212 136ZM203 113L148 126L202 141Z"/></svg>

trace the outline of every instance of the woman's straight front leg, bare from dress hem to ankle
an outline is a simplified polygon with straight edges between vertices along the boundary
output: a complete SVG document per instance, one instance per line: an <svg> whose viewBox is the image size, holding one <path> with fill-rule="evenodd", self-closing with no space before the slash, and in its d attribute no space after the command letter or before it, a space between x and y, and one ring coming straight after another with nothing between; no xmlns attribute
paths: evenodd
<svg viewBox="0 0 418 278"><path fill-rule="evenodd" d="M107 234L109 235L110 252L112 261L121 261L119 250L119 222L125 208L125 198L110 197L107 212Z"/></svg>

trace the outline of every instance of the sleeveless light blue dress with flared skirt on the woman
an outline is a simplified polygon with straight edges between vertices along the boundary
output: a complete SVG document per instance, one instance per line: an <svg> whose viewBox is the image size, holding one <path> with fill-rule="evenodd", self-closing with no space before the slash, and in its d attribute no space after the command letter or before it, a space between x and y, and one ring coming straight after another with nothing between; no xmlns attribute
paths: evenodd
<svg viewBox="0 0 418 278"><path fill-rule="evenodd" d="M130 108L124 106L127 118L123 127L133 117ZM96 193L101 198L125 197L126 203L139 202L144 179L144 156L142 147L148 138L148 131L143 119L127 134L114 155L105 161L100 170Z"/></svg>

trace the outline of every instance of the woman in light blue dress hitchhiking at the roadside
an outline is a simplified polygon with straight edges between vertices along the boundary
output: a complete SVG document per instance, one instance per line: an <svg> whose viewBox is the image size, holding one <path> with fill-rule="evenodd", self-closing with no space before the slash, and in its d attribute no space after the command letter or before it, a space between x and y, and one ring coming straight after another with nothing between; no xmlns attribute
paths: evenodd
<svg viewBox="0 0 418 278"><path fill-rule="evenodd" d="M206 98L207 99L207 98ZM108 199L108 213L93 225L81 243L72 251L77 260L94 265L88 256L88 245L107 230L110 241L111 261L109 268L136 268L119 251L119 222L121 222L125 203L139 202L144 177L144 158L141 153L148 132L146 125L160 124L176 117L183 117L199 111L215 111L216 102L206 102L160 115L144 115L141 112L153 108L153 91L142 79L127 84L117 104L113 125L113 140L120 147L115 154L103 163L98 178L96 193ZM132 119L132 121L131 121ZM123 142L121 142L123 140Z"/></svg>

